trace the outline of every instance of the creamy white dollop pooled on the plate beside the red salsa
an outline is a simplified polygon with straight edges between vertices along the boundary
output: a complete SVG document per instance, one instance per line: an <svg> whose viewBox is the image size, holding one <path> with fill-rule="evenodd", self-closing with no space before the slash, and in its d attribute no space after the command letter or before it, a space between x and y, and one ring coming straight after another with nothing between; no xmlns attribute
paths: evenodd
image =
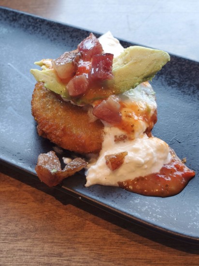
<svg viewBox="0 0 199 266"><path fill-rule="evenodd" d="M121 132L114 127L106 127L104 132L99 158L86 173L86 187L95 184L118 186L118 182L157 173L163 164L171 160L169 146L156 137L149 138L143 134L133 141L115 143L114 136ZM122 151L128 151L128 155L125 156L124 163L112 171L106 165L105 155Z"/></svg>

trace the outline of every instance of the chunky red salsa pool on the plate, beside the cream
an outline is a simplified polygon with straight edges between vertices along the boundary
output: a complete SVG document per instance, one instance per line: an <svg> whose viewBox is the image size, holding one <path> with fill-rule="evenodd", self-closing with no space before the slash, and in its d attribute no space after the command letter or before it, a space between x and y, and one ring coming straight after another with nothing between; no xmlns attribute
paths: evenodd
<svg viewBox="0 0 199 266"><path fill-rule="evenodd" d="M181 192L195 172L182 163L174 151L170 152L171 161L158 173L118 182L119 187L145 196L168 197Z"/></svg>

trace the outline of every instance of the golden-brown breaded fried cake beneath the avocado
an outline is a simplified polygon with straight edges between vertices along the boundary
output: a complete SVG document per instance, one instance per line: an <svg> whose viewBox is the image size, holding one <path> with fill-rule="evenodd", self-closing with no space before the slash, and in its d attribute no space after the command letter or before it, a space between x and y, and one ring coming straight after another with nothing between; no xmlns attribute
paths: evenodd
<svg viewBox="0 0 199 266"><path fill-rule="evenodd" d="M31 105L39 135L78 153L100 151L104 126L99 119L89 122L85 108L64 102L43 83L36 84Z"/></svg>

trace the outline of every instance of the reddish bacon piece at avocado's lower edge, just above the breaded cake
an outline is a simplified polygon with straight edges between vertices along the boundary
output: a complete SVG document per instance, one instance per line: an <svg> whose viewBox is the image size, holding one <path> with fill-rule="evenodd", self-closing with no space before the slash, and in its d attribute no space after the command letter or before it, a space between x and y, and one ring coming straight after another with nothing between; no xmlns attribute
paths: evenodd
<svg viewBox="0 0 199 266"><path fill-rule="evenodd" d="M69 81L66 88L68 89L69 95L71 97L78 97L80 95L83 95L88 89L88 78L85 74L74 76Z"/></svg>

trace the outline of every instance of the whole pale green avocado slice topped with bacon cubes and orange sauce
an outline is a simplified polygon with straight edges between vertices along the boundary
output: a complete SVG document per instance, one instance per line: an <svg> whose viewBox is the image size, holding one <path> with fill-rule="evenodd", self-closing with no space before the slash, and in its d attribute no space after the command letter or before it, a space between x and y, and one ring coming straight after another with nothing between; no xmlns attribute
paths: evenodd
<svg viewBox="0 0 199 266"><path fill-rule="evenodd" d="M35 63L41 66L42 70L31 69L30 73L38 82L43 82L46 88L75 104L84 105L134 89L140 83L152 80L168 61L170 56L167 52L142 46L130 46L114 58L114 79L91 84L86 93L78 98L70 97L66 89L67 83L59 79L53 68L45 65L45 60Z"/></svg>

